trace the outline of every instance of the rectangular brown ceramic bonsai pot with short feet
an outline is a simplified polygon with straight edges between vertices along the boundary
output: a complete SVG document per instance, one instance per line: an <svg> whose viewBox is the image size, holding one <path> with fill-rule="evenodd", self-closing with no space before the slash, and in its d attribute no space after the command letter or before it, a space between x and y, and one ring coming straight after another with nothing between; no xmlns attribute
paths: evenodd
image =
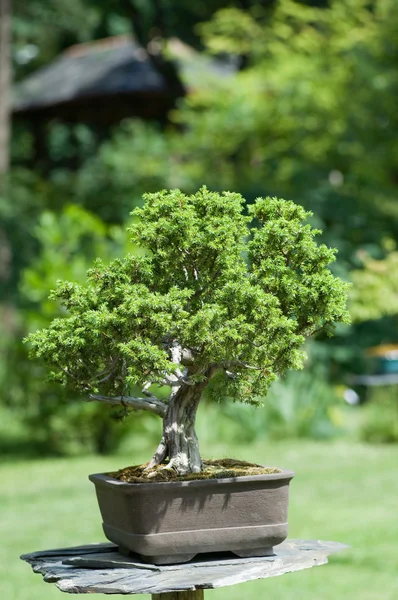
<svg viewBox="0 0 398 600"><path fill-rule="evenodd" d="M281 471L228 479L125 483L90 475L106 537L145 562L187 562L203 552L269 556L287 537L289 483Z"/></svg>

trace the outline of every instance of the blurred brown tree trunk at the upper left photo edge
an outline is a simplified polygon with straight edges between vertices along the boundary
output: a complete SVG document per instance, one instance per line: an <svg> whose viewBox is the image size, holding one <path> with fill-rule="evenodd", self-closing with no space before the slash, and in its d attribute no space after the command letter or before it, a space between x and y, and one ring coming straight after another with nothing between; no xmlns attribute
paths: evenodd
<svg viewBox="0 0 398 600"><path fill-rule="evenodd" d="M11 0L0 0L0 177L10 161Z"/></svg>

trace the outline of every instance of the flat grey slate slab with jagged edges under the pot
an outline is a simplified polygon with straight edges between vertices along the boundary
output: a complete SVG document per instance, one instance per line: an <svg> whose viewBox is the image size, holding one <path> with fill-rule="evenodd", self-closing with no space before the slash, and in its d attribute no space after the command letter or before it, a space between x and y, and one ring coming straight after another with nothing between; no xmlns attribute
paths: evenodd
<svg viewBox="0 0 398 600"><path fill-rule="evenodd" d="M150 565L119 554L110 543L32 552L21 556L47 583L72 594L164 594L214 589L275 577L327 563L348 546L338 542L286 540L267 557L203 554L189 563Z"/></svg>

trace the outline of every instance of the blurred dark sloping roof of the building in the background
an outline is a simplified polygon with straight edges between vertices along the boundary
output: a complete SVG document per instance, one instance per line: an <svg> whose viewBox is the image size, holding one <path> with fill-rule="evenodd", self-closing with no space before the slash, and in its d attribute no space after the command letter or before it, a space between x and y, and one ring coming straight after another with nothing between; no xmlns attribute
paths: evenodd
<svg viewBox="0 0 398 600"><path fill-rule="evenodd" d="M169 48L188 90L211 86L234 72L232 64L213 60L180 40L170 40ZM119 36L72 46L16 84L13 114L109 125L131 116L161 118L175 98L176 90L145 50L129 36Z"/></svg>

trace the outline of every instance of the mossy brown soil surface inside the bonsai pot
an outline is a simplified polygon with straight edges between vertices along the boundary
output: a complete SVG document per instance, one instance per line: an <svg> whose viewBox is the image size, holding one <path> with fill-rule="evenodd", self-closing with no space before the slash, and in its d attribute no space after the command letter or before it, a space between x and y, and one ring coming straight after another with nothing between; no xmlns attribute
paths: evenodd
<svg viewBox="0 0 398 600"><path fill-rule="evenodd" d="M192 481L195 479L222 479L227 477L242 477L245 475L270 475L281 473L276 467L264 467L233 458L204 460L200 473L178 475L167 463L148 469L148 463L125 467L119 471L107 473L109 477L126 483L150 483L159 481Z"/></svg>

